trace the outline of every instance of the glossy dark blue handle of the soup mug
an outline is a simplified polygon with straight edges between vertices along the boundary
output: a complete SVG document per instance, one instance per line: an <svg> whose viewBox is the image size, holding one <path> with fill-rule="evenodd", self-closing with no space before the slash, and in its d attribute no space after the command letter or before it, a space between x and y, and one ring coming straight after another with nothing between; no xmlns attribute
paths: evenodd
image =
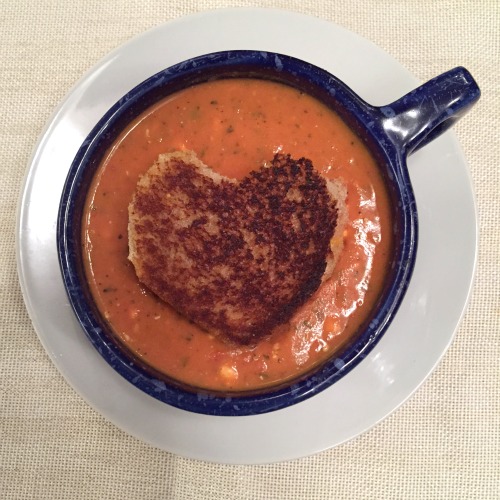
<svg viewBox="0 0 500 500"><path fill-rule="evenodd" d="M472 75L459 66L378 109L385 133L409 155L450 128L480 95Z"/></svg>

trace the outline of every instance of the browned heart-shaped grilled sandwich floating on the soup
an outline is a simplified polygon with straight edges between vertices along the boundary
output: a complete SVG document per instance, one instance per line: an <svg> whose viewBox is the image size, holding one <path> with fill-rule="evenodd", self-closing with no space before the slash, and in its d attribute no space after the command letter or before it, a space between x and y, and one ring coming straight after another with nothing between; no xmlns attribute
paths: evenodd
<svg viewBox="0 0 500 500"><path fill-rule="evenodd" d="M129 259L179 313L253 343L331 275L345 196L306 159L278 154L238 181L191 151L161 155L129 205Z"/></svg>

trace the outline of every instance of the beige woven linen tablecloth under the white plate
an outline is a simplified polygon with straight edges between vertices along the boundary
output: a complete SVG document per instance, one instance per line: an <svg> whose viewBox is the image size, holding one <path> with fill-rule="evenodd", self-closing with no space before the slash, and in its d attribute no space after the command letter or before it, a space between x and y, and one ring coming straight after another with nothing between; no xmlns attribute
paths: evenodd
<svg viewBox="0 0 500 500"><path fill-rule="evenodd" d="M0 498L500 499L500 2L498 0L0 1ZM226 466L152 448L64 381L27 315L15 217L45 123L110 50L207 8L279 7L371 40L420 80L456 65L482 98L457 126L480 218L468 312L435 372L389 418L338 448ZM314 34L311 34L314 36Z"/></svg>

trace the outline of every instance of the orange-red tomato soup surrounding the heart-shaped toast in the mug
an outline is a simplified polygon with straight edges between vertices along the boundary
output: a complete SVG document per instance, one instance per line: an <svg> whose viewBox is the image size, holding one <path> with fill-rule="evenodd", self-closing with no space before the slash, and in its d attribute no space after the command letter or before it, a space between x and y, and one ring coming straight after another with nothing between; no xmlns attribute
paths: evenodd
<svg viewBox="0 0 500 500"><path fill-rule="evenodd" d="M159 154L185 149L238 179L278 152L306 157L347 187L344 250L333 276L257 345L202 331L141 285L127 259L128 204L139 177ZM182 383L244 392L300 377L356 335L383 287L391 227L379 169L334 112L291 87L236 78L182 90L131 123L93 179L82 230L91 292L120 342Z"/></svg>

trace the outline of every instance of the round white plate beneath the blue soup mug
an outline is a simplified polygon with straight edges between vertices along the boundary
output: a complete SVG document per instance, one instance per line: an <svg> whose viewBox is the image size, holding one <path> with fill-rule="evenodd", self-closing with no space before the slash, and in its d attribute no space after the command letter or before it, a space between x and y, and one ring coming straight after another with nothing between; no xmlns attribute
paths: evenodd
<svg viewBox="0 0 500 500"><path fill-rule="evenodd" d="M248 417L190 414L134 388L92 347L69 306L56 254L59 196L83 139L125 92L165 67L225 49L268 50L307 60L375 105L418 84L365 39L300 14L224 9L159 26L102 60L50 120L20 200L18 268L42 344L97 411L156 447L197 459L255 464L337 446L375 425L417 389L462 317L475 268L477 222L467 165L453 132L447 132L409 160L420 243L406 298L380 343L346 377L291 408Z"/></svg>

